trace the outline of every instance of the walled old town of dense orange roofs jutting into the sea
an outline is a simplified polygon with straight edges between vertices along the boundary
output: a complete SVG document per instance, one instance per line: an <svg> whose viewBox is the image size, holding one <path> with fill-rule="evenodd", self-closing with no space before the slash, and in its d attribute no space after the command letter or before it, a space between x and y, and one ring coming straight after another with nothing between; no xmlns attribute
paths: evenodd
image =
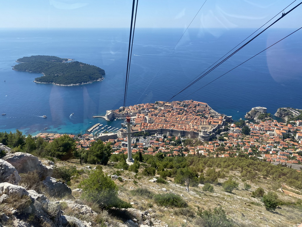
<svg viewBox="0 0 302 227"><path fill-rule="evenodd" d="M198 138L208 141L215 131L226 129L226 122L233 121L231 116L217 113L208 104L193 100L147 103L117 110L107 110L105 119L133 118L133 133L165 133L178 137ZM101 117L101 116L95 116Z"/></svg>

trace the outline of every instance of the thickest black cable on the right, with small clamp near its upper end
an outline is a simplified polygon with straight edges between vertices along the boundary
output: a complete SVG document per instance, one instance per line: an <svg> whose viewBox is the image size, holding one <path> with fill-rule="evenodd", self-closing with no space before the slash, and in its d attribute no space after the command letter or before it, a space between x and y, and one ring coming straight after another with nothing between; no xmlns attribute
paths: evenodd
<svg viewBox="0 0 302 227"><path fill-rule="evenodd" d="M184 90L188 89L189 87L191 87L193 84L195 84L197 81L199 81L201 78L205 77L207 74L209 74L211 71L213 71L214 69L216 69L218 66L220 66L223 62L225 62L227 59L229 59L230 57L232 57L234 54L236 54L239 50L241 50L243 47L245 47L247 44L249 44L251 41L253 41L255 38L257 38L259 35L261 35L264 31L266 31L268 28L270 28L272 25L274 25L275 23L277 23L279 20L281 20L284 16L288 15L291 11L293 11L295 8L297 8L299 5L301 5L302 2L300 2L298 5L296 5L294 8L292 8L291 10L289 10L286 13L282 13L281 17L278 18L277 20L275 20L271 25L269 25L268 27L266 27L264 30L262 30L260 33L258 33L256 36L254 36L252 39L250 39L248 42L246 42L245 44L243 44L240 48L236 49L236 51L234 51L232 54L228 55L226 58L224 58L222 61L220 61L218 64L216 64L214 67L212 67L210 70L208 70L206 73L204 74L199 74L198 76L200 76L198 79L196 79L195 81L193 81L191 84L189 84L187 87L185 87L184 89L182 89L181 91L179 91L177 94L175 94L174 96L172 96L168 101L169 102L172 98L174 98L176 95L182 93Z"/></svg>

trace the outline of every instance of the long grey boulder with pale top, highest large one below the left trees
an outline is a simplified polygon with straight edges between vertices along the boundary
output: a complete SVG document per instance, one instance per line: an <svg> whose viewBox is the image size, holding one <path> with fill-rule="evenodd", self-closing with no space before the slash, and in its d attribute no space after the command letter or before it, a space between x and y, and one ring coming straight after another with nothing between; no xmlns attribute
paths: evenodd
<svg viewBox="0 0 302 227"><path fill-rule="evenodd" d="M11 163L18 170L18 173L37 171L40 177L51 176L53 173L52 166L43 165L37 157L28 153L9 153L3 159Z"/></svg>

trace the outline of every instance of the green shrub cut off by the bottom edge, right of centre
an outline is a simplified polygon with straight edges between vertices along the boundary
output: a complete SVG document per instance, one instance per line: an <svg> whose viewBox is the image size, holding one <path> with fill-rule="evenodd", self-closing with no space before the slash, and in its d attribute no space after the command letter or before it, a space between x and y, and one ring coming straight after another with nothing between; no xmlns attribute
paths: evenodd
<svg viewBox="0 0 302 227"><path fill-rule="evenodd" d="M199 210L197 215L200 216L204 223L202 226L207 227L232 227L233 221L228 219L226 212L222 207L215 207L213 210L207 209L204 211ZM201 220L200 220L201 222Z"/></svg>

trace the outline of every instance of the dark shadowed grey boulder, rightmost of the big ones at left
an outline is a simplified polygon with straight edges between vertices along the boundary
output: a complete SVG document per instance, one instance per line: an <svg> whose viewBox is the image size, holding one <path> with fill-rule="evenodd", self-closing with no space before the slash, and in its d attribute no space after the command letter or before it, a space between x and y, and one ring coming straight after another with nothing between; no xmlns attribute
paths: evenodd
<svg viewBox="0 0 302 227"><path fill-rule="evenodd" d="M66 195L71 195L71 189L66 184L57 181L53 177L46 177L42 183L47 187L46 189L50 196L63 197Z"/></svg>

